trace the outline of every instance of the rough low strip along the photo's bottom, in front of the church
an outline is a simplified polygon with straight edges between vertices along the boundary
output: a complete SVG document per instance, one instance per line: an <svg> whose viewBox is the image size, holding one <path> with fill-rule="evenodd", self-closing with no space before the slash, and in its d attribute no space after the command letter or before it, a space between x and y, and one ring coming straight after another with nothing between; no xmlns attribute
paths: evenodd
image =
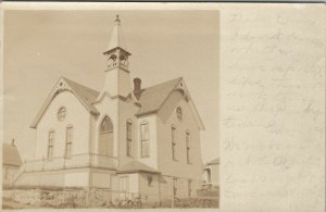
<svg viewBox="0 0 326 212"><path fill-rule="evenodd" d="M20 202L22 205L29 204L29 207L33 205L35 208L218 208L217 197L178 198L173 195L161 196L160 194L135 194L103 188L80 189L21 187L12 190L3 190L3 192L7 198L11 198ZM158 200L149 201L148 197Z"/></svg>

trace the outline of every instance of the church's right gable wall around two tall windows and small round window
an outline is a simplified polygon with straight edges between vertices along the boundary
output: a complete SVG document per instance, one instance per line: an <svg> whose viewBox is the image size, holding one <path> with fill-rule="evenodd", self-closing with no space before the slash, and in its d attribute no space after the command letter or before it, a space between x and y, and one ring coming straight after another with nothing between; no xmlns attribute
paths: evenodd
<svg viewBox="0 0 326 212"><path fill-rule="evenodd" d="M183 121L176 108L183 110ZM172 130L176 127L176 160L172 155ZM193 113L180 91L174 91L159 112L159 170L163 175L201 180L200 132ZM187 163L186 132L190 133L190 163Z"/></svg>

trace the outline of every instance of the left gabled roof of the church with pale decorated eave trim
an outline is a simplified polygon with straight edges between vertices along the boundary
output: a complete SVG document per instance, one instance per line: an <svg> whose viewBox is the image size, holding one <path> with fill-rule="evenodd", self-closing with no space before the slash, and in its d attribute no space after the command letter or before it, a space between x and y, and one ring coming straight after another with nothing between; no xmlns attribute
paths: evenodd
<svg viewBox="0 0 326 212"><path fill-rule="evenodd" d="M79 102L88 110L90 113L100 114L99 111L92 105L92 102L96 101L97 97L99 96L99 91L83 86L76 82L73 82L65 77L60 77L55 86L53 87L52 91L48 96L47 100L40 108L39 112L37 113L35 120L33 121L30 127L35 128L40 121L41 116L46 112L47 108L51 103L52 99L55 95L62 90L71 90L75 97L79 100Z"/></svg>

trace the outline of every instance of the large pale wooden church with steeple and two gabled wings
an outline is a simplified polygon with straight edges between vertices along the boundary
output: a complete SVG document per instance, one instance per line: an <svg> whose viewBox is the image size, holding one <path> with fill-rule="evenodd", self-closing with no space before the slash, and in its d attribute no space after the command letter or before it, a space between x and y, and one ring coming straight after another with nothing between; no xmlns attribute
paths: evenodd
<svg viewBox="0 0 326 212"><path fill-rule="evenodd" d="M14 184L111 189L112 199L193 197L201 187L204 129L183 77L141 87L118 16L102 90L60 77L30 127L35 158ZM186 62L186 61L185 61Z"/></svg>

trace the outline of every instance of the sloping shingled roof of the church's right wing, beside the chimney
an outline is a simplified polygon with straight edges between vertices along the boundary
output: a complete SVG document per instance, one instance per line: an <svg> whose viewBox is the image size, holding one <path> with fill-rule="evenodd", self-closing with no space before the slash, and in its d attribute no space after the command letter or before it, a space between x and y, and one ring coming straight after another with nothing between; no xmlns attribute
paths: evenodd
<svg viewBox="0 0 326 212"><path fill-rule="evenodd" d="M181 79L181 77L178 77L155 86L145 88L139 98L141 108L137 111L136 115L143 115L158 111L164 103L165 99L173 91L177 83L179 83Z"/></svg>

